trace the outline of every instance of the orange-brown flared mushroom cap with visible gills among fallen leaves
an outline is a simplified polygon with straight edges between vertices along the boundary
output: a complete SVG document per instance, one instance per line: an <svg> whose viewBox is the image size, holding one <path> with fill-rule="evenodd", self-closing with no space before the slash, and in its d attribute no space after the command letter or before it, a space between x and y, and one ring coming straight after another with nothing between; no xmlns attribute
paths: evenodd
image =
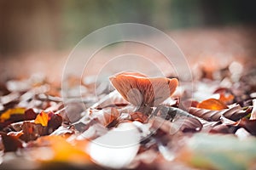
<svg viewBox="0 0 256 170"><path fill-rule="evenodd" d="M109 77L125 100L136 106L156 106L177 88L177 78L146 77L137 72L122 72Z"/></svg>

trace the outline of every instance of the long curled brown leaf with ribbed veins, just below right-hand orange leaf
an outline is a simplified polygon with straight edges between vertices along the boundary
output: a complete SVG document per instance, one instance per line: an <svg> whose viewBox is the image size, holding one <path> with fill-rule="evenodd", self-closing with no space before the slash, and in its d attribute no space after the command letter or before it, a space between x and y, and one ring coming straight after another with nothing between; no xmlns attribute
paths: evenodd
<svg viewBox="0 0 256 170"><path fill-rule="evenodd" d="M233 121L237 121L241 119L241 117L247 116L249 110L250 108L248 108L246 111L243 111L239 105L231 107L230 109L224 109L222 111L212 111L207 109L191 107L189 109L189 113L201 117L202 119L207 121L219 121L220 116L222 115Z"/></svg>

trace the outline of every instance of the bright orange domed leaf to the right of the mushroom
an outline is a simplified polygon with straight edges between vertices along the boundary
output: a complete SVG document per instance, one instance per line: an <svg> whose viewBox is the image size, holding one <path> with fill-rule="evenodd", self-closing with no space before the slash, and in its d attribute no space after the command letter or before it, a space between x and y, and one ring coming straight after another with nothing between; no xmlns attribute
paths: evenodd
<svg viewBox="0 0 256 170"><path fill-rule="evenodd" d="M228 109L227 105L224 105L222 101L219 99L206 99L199 103L197 108L213 110L213 111L220 111L223 109Z"/></svg>

